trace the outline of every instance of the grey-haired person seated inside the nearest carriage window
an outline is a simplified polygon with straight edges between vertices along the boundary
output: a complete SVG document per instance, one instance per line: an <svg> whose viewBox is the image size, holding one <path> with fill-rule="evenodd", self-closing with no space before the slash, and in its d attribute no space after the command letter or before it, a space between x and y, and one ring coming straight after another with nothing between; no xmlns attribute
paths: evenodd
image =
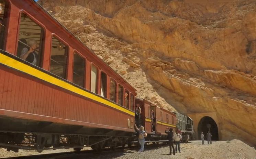
<svg viewBox="0 0 256 159"><path fill-rule="evenodd" d="M29 49L26 47L23 48L20 57L31 64L37 65L38 54L35 52L35 49L37 48L38 44L35 40L30 40L27 42L27 45L29 45Z"/></svg>

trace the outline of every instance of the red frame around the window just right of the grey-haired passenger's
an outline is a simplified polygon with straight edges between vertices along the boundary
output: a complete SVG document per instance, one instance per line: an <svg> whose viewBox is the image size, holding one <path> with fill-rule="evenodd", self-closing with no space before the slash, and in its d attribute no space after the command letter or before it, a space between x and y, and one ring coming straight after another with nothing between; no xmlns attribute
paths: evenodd
<svg viewBox="0 0 256 159"><path fill-rule="evenodd" d="M68 43L66 42L66 41L64 41L62 38L60 38L58 35L56 35L55 33L52 33L52 35L51 35L51 45L50 45L50 54L49 54L49 67L48 67L48 71L49 72L51 72L50 71L50 68L51 68L51 54L52 54L52 41L53 41L53 37L55 37L56 39L58 39L60 42L62 42L63 44L65 44L68 48L67 48L67 61L66 61L66 77L64 78L64 79L66 79L67 80L67 77L68 77L68 61L69 61L69 58L70 58L70 53L69 53L69 51L70 51L70 46L68 45ZM72 66L72 68L73 68L73 66ZM72 70L72 72L73 72L73 70ZM55 75L55 74L54 74ZM56 75L56 76L58 76L58 75ZM59 77L59 76L58 76ZM62 77L60 77L60 78L62 78Z"/></svg>

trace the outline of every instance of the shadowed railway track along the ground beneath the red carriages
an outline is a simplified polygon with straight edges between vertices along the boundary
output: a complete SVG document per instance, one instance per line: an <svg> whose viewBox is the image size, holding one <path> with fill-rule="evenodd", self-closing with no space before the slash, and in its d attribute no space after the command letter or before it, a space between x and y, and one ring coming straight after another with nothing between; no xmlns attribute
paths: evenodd
<svg viewBox="0 0 256 159"><path fill-rule="evenodd" d="M157 142L157 141L156 141ZM159 142L159 141L158 141ZM149 142L145 142L149 143ZM145 149L148 148L156 148L156 147L162 147L165 146L165 143L162 144L146 144ZM133 145L132 147L118 147L115 151L113 151L111 148L106 148L101 151L100 154L109 153L109 152L119 152L119 151L125 151L125 150L134 150L138 149L137 145ZM84 159L87 157L87 155L97 155L99 153L96 153L95 150L82 150L82 151L72 151L72 152L63 152L63 153L52 153L52 154L42 154L42 155L30 155L30 156L18 156L18 157L7 157L2 159Z"/></svg>

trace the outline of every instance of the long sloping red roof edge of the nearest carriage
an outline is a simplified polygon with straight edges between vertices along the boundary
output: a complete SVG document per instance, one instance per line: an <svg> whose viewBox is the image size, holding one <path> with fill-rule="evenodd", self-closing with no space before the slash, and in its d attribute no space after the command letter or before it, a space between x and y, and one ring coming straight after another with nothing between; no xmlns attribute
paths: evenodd
<svg viewBox="0 0 256 159"><path fill-rule="evenodd" d="M41 8L49 17L51 17L56 23L58 23L59 26L61 26L62 28L64 28L68 34L70 34L73 38L75 38L80 44L83 45L83 47L85 47L95 58L98 58L102 64L105 65L105 67L107 67L108 69L110 69L116 76L118 76L124 83L126 83L127 85L129 85L130 89L132 89L132 91L136 91L136 89L130 84L128 83L122 76L120 76L114 69L112 69L107 63L105 63L97 54L95 54L90 48L88 48L81 40L79 40L71 31L69 31L64 25L62 25L56 18L54 18L51 14L49 14L44 8L43 6L41 6L40 4L38 4L37 2L35 2L34 0L32 0L33 3L35 3L39 8ZM118 79L116 79L118 80ZM136 93L134 95L137 95Z"/></svg>

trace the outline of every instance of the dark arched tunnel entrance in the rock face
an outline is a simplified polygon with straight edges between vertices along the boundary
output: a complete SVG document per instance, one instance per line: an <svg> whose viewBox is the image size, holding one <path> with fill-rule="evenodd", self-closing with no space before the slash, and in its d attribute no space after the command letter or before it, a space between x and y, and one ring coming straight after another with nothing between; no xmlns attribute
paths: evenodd
<svg viewBox="0 0 256 159"><path fill-rule="evenodd" d="M203 132L206 137L208 131L212 134L212 140L219 140L218 126L216 122L211 117L203 117L198 124L198 138L201 138L201 132Z"/></svg>

